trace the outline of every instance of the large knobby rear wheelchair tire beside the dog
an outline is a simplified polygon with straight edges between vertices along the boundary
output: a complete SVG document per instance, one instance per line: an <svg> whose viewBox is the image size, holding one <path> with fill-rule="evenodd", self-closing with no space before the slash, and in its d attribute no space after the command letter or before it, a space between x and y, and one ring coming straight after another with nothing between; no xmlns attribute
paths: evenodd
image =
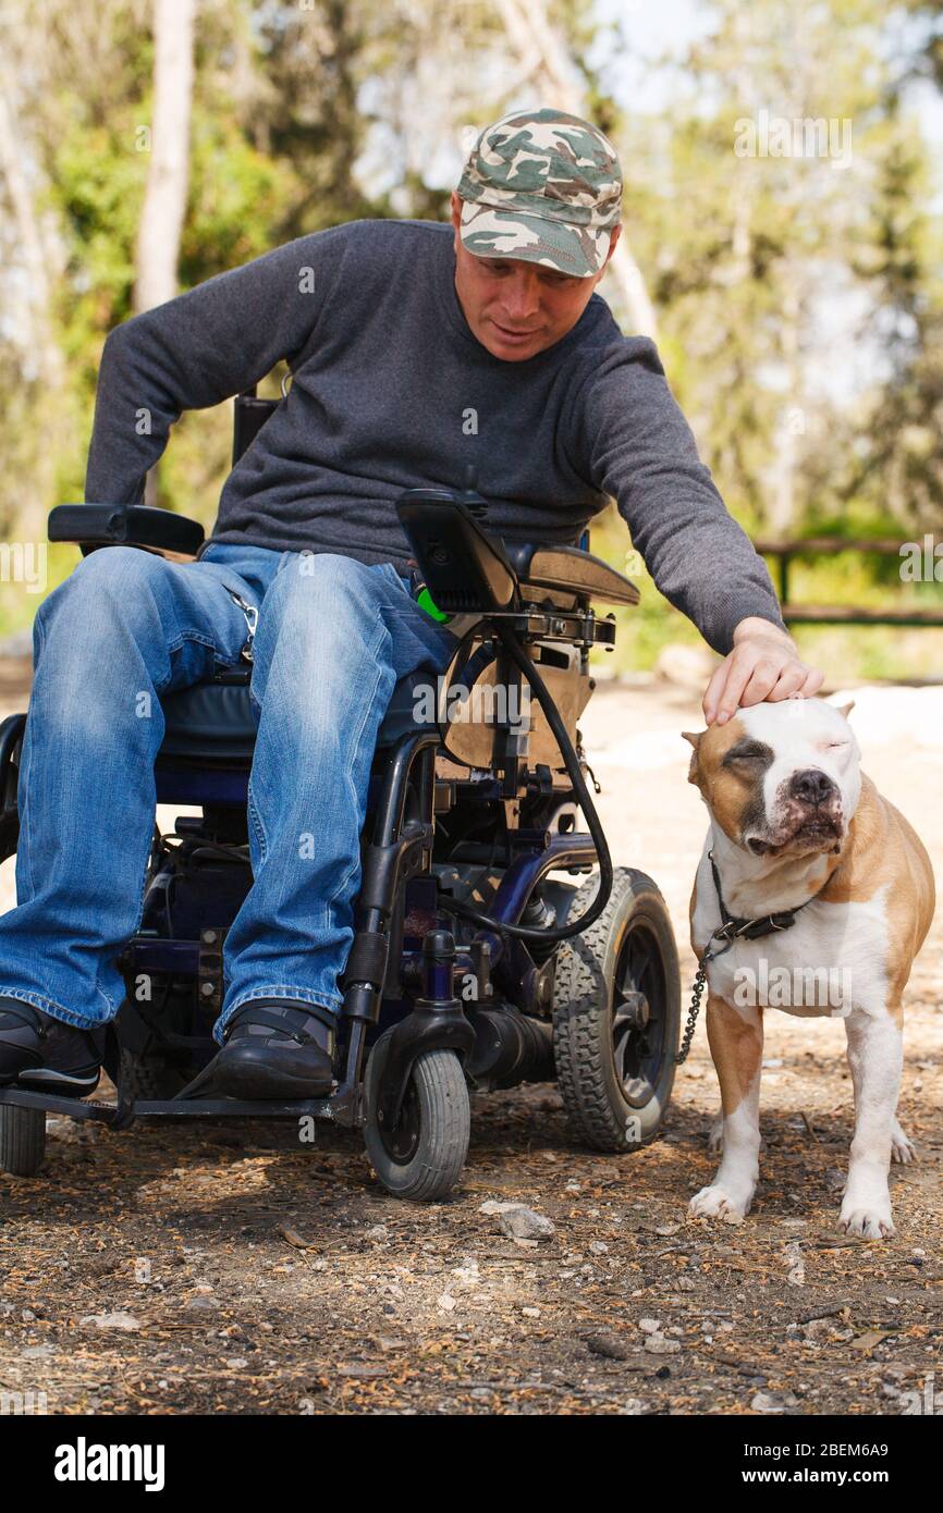
<svg viewBox="0 0 943 1513"><path fill-rule="evenodd" d="M599 888L572 900L574 918ZM678 950L664 899L634 867L583 935L563 941L554 983L554 1058L563 1106L595 1150L625 1151L658 1133L681 1033Z"/></svg>

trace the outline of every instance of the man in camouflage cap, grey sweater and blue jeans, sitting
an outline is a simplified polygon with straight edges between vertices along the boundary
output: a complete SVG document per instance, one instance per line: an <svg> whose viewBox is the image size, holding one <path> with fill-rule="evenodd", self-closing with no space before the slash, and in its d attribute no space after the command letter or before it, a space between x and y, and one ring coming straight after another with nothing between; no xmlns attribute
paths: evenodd
<svg viewBox="0 0 943 1513"><path fill-rule="evenodd" d="M415 601L394 501L468 464L509 539L574 542L613 495L655 584L724 654L705 717L808 696L761 560L730 517L655 346L593 290L619 238L612 144L557 110L487 127L453 231L300 238L104 343L86 498L139 502L185 409L294 381L227 480L195 563L89 554L41 605L20 775L18 906L0 918L0 1080L83 1092L141 918L160 694L235 663L257 610L253 887L226 943L218 1088L330 1086L359 835L394 684L456 637ZM236 598L233 598L233 595Z"/></svg>

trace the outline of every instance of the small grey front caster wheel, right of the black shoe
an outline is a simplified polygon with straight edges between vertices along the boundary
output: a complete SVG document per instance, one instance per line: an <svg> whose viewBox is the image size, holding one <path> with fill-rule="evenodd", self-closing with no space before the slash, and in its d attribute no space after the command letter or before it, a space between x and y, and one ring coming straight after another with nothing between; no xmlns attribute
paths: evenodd
<svg viewBox="0 0 943 1513"><path fill-rule="evenodd" d="M400 1121L386 1130L377 1120L386 1030L366 1064L366 1154L387 1192L415 1203L448 1197L462 1176L471 1136L471 1108L462 1064L451 1050L427 1050L413 1062Z"/></svg>

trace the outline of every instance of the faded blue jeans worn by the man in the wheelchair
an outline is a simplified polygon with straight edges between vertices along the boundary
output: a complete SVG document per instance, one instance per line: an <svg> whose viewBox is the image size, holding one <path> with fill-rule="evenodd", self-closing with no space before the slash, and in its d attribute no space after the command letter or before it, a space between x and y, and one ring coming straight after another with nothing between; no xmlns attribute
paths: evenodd
<svg viewBox="0 0 943 1513"><path fill-rule="evenodd" d="M443 672L459 642L392 563L235 543L194 563L101 548L39 605L0 994L83 1029L118 1012L114 958L139 927L151 853L160 694L239 661L247 617L227 589L259 611L257 737L253 885L226 938L215 1038L248 999L341 1008L377 732L394 685Z"/></svg>

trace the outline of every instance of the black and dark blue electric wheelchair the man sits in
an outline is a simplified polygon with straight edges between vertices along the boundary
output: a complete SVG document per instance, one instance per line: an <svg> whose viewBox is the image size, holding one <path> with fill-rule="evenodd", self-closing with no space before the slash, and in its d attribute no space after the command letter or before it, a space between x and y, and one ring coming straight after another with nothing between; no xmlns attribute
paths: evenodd
<svg viewBox="0 0 943 1513"><path fill-rule="evenodd" d="M236 398L233 463L277 402ZM468 1156L469 1089L522 1082L557 1082L577 1136L598 1150L655 1138L680 1039L678 956L652 879L612 865L577 726L595 687L589 652L616 634L593 605L634 605L639 590L590 555L587 531L568 546L500 539L471 483L397 504L433 613L453 616L460 642L433 717L416 719L419 684L434 679L419 669L380 728L331 1095L250 1103L189 1088L216 1052L223 946L251 885L247 646L162 699L157 803L201 816L163 835L154 825L142 918L117 958L127 996L104 1062L117 1098L0 1089L0 1170L39 1170L47 1112L117 1130L280 1118L303 1139L328 1120L363 1127L391 1194L442 1200ZM191 560L203 527L145 505L59 505L48 537ZM0 723L0 861L17 849L24 726L26 714Z"/></svg>

